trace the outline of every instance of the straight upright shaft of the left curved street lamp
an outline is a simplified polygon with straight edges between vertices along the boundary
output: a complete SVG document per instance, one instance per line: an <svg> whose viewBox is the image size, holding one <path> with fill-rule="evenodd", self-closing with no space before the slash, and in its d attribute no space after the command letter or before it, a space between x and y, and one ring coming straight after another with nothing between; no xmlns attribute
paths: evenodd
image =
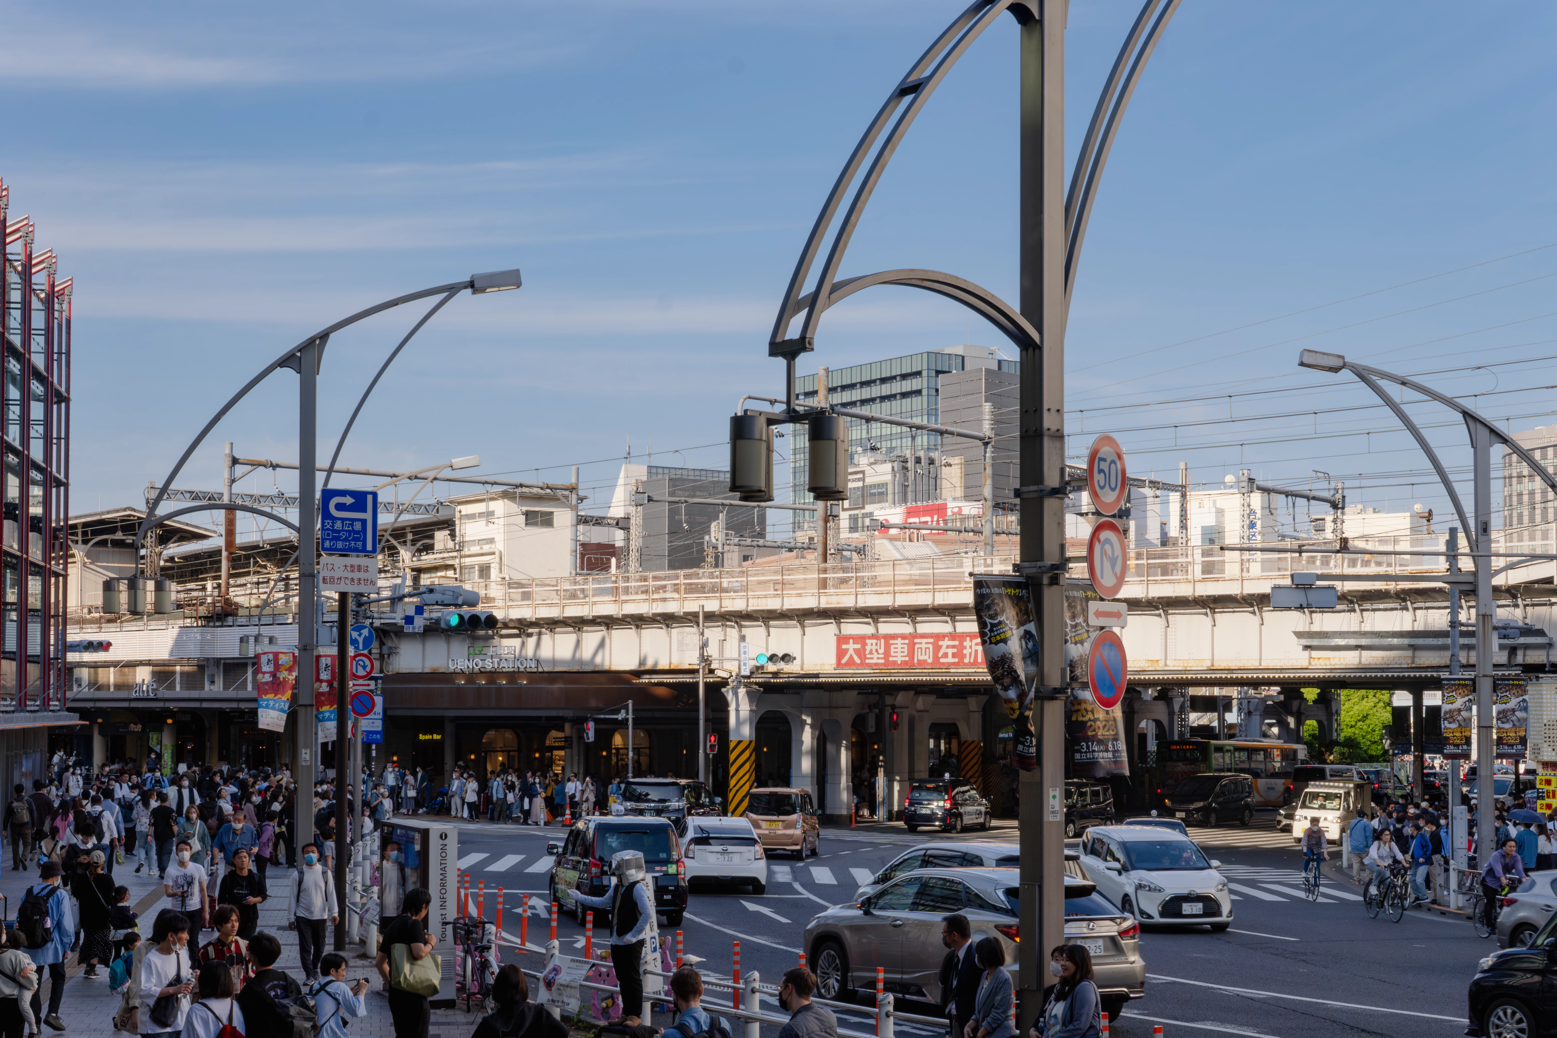
<svg viewBox="0 0 1557 1038"><path fill-rule="evenodd" d="M318 608L318 425L319 339L297 350L297 745L293 773L297 777L297 839L313 837L313 780L319 738L313 716L315 638Z"/></svg>

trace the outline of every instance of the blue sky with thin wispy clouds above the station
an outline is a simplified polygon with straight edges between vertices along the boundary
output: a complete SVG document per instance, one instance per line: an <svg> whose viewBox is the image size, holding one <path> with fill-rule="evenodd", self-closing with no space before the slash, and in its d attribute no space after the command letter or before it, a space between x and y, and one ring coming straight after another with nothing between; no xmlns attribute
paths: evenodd
<svg viewBox="0 0 1557 1038"><path fill-rule="evenodd" d="M736 398L782 386L768 328L827 188L956 11L11 8L0 176L12 218L37 221L76 283L73 510L139 501L221 400L311 330L508 266L525 288L439 314L346 464L480 453L483 472L557 479L601 462L585 465L601 486L615 479L604 459L652 437L655 464L722 467ZM1135 11L1073 5L1073 146ZM1557 358L1554 30L1557 9L1537 3L1186 2L1088 232L1068 339L1073 451L1119 430L1137 473L1322 468L1347 475L1353 501L1436 501L1383 411L1333 411L1367 400L1341 377L1295 373L1303 345L1408 372L1521 359L1431 380L1488 394L1478 405L1513 428L1551 422L1538 387L1557 383L1557 361L1534 358ZM844 274L928 266L1015 297L1015 42L1001 22L937 92ZM839 305L810 367L1003 345L920 296ZM416 316L332 342L325 444ZM291 378L257 391L179 482L216 486L224 439L294 458ZM1278 392L1160 403L1252 389ZM1152 406L1101 411L1110 400ZM1260 420L1188 425L1228 416Z"/></svg>

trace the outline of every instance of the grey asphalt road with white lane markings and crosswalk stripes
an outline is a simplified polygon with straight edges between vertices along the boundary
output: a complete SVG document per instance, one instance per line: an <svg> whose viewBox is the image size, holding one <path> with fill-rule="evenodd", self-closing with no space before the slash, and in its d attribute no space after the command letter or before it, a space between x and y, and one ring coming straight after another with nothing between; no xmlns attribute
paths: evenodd
<svg viewBox="0 0 1557 1038"><path fill-rule="evenodd" d="M1478 959L1496 948L1496 938L1481 940L1468 923L1422 912L1408 912L1400 923L1390 923L1387 915L1370 920L1350 879L1327 882L1319 903L1305 901L1302 859L1291 837L1275 833L1272 823L1274 814L1261 812L1249 829L1191 829L1233 884L1236 918L1224 934L1207 928L1148 929L1141 938L1146 998L1130 1002L1113 1035L1151 1035L1154 1024L1169 1036L1460 1035L1467 982ZM517 935L522 893L547 899L545 845L559 839L561 826L459 829L461 867L489 889L504 887L504 929ZM807 920L852 899L856 885L898 853L923 842L1014 839L1010 823L964 836L909 836L902 826L824 829L819 857L769 857L763 896L744 887L694 890L680 926L685 952L729 976L732 942L740 940L743 970L755 968L764 982L777 980L797 962ZM1339 851L1333 854L1327 881L1339 875ZM490 906L492 898L487 915ZM547 926L539 912L532 909L531 928ZM670 928L662 921L662 929ZM545 935L540 929L539 940ZM559 921L557 935L564 948L582 948L582 931L571 920ZM674 932L668 935L674 938ZM534 929L531 942L537 942ZM775 1012L772 1004L769 1008ZM869 1033L869 1018L858 1016L850 1029ZM911 1021L900 1021L898 1030L912 1038L936 1033Z"/></svg>

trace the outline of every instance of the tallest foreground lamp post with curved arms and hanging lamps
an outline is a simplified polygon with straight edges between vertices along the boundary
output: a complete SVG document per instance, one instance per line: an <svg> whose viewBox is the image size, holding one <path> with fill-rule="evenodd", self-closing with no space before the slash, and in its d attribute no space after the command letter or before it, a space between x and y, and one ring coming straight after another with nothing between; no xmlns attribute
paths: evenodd
<svg viewBox="0 0 1557 1038"><path fill-rule="evenodd" d="M1020 372L1020 562L1037 610L1042 674L1031 707L1037 742L1037 770L1021 772L1020 926L1031 937L1018 946L1021 1027L1026 1029L1051 982L1040 971L1045 949L1065 938L1063 903L1063 725L1070 694L1065 672L1065 322L1076 266L1098 184L1113 148L1119 120L1146 62L1179 0L1146 0L1126 36L1098 98L1081 154L1065 184L1065 14L1068 0L975 0L909 67L889 90L817 213L800 258L789 277L774 321L768 355L785 361L783 409L746 411L732 422L732 490L752 493L750 475L760 468L757 430L768 423L805 422L827 414L825 406L796 406L796 359L814 349L822 313L844 297L875 285L920 288L958 302L989 321L1018 349ZM968 47L1010 12L1020 26L1020 297L1012 307L989 289L939 271L898 269L839 280L844 252L864 209L909 126L931 93ZM877 142L880 140L880 146ZM844 209L844 198L858 181ZM841 213L841 215L839 215ZM833 224L838 224L814 288L805 285ZM799 335L789 325L803 317ZM743 425L746 422L746 425ZM760 439L757 440L760 444ZM769 436L771 453L771 436ZM746 459L743 464L736 464ZM766 472L771 500L772 468ZM740 478L738 478L740 475ZM732 736L733 738L733 736Z"/></svg>

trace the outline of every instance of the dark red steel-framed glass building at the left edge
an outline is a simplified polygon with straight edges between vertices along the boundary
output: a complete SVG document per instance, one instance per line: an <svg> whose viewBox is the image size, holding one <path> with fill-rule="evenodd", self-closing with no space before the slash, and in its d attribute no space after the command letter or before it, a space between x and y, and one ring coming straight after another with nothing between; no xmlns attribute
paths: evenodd
<svg viewBox="0 0 1557 1038"><path fill-rule="evenodd" d="M0 711L65 708L65 540L70 515L70 279L9 219L0 181Z"/></svg>

